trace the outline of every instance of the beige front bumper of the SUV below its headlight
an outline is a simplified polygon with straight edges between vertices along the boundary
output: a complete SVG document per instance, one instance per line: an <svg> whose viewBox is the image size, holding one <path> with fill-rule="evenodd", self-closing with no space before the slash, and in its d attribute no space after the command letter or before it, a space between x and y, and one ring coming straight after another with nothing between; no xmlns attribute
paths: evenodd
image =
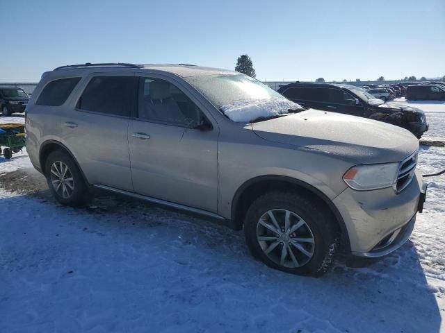
<svg viewBox="0 0 445 333"><path fill-rule="evenodd" d="M416 213L423 207L426 185L416 171L401 193L394 189L346 189L333 202L348 230L350 250L359 257L381 257L402 246L410 237Z"/></svg>

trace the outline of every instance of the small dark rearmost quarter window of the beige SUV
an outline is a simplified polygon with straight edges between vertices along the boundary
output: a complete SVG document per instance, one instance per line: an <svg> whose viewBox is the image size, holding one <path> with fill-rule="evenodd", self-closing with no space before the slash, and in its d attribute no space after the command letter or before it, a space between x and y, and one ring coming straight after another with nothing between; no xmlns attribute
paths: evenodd
<svg viewBox="0 0 445 333"><path fill-rule="evenodd" d="M47 106L62 105L80 80L81 78L61 78L60 80L51 81L45 85L35 104Z"/></svg>

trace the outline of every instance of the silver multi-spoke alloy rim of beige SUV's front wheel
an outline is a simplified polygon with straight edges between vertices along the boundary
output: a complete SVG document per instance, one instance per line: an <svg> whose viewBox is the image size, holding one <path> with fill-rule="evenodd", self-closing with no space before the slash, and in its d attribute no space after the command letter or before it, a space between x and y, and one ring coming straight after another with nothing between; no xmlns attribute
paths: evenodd
<svg viewBox="0 0 445 333"><path fill-rule="evenodd" d="M267 257L287 268L312 259L315 239L304 219L289 210L268 210L257 223L257 240Z"/></svg>

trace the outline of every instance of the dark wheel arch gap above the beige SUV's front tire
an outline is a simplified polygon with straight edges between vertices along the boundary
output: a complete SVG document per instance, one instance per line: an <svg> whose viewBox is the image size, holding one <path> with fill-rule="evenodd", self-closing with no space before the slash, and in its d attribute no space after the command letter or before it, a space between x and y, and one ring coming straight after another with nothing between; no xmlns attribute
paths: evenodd
<svg viewBox="0 0 445 333"><path fill-rule="evenodd" d="M232 227L236 230L241 230L243 228L245 212L247 212L250 203L252 203L259 194L274 189L298 191L300 193L304 192L321 202L327 208L328 212L334 216L334 219L337 222L337 227L341 232L341 244L343 244L346 250L350 252L350 242L346 223L337 207L332 203L332 200L323 194L322 191L309 185L307 182L288 176L258 176L244 182L243 185L236 190L232 200Z"/></svg>

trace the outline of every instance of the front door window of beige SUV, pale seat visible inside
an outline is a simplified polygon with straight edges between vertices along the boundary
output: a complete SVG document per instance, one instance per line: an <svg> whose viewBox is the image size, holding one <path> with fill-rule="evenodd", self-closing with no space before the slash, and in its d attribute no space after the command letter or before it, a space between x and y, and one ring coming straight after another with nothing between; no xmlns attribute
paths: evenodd
<svg viewBox="0 0 445 333"><path fill-rule="evenodd" d="M159 78L140 78L138 118L195 127L202 123L204 116L175 85Z"/></svg>

